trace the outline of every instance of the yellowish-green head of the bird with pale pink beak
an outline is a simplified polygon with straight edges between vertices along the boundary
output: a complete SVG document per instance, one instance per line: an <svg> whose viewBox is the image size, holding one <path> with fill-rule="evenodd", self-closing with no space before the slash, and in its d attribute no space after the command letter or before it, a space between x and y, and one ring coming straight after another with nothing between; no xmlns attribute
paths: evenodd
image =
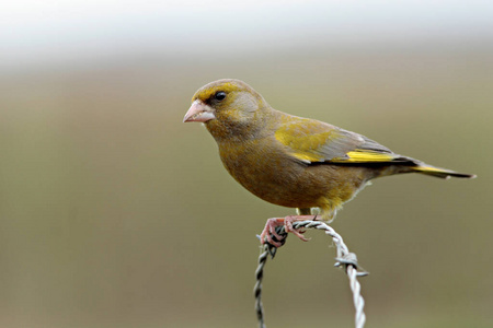
<svg viewBox="0 0 493 328"><path fill-rule="evenodd" d="M264 109L267 103L243 81L218 80L194 94L183 121L204 122L216 140L248 137L260 128Z"/></svg>

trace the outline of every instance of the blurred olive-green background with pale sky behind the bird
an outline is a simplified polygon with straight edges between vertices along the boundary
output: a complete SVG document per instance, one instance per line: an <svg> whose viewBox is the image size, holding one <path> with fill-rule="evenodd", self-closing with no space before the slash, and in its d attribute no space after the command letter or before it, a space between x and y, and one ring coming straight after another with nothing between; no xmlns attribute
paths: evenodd
<svg viewBox="0 0 493 328"><path fill-rule="evenodd" d="M244 80L272 106L478 174L376 180L333 223L367 327L493 325L493 5L20 1L0 11L0 326L255 327L255 234L293 213L182 124ZM335 248L266 267L268 327L352 327Z"/></svg>

